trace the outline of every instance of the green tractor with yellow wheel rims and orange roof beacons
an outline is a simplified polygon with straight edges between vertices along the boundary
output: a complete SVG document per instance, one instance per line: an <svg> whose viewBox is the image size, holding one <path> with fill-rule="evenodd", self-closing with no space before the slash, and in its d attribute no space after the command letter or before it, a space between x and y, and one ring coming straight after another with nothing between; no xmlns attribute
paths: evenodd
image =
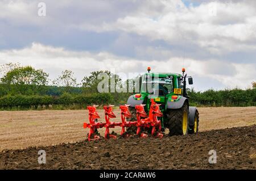
<svg viewBox="0 0 256 181"><path fill-rule="evenodd" d="M148 73L140 77L140 93L131 95L127 100L130 105L130 112L136 120L135 106L146 104L145 111L150 110L151 99L160 105L163 117L159 117L162 123L162 132L169 129L169 135L186 135L199 131L199 112L196 107L189 106L189 96L187 94L187 81L193 84L193 78L177 73ZM132 129L132 128L131 128Z"/></svg>

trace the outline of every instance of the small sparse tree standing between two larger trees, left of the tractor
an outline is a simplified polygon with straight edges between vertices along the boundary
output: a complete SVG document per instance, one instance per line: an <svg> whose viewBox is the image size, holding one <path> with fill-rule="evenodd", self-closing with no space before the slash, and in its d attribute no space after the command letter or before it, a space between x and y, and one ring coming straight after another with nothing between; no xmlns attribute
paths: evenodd
<svg viewBox="0 0 256 181"><path fill-rule="evenodd" d="M56 78L53 82L55 86L63 86L65 91L71 93L73 87L79 86L72 70L61 71L61 75Z"/></svg>

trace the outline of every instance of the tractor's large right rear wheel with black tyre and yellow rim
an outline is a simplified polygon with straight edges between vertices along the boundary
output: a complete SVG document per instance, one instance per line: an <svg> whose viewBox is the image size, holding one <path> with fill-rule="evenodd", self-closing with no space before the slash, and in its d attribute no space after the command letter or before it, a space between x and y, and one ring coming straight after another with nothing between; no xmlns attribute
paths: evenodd
<svg viewBox="0 0 256 181"><path fill-rule="evenodd" d="M167 119L169 135L187 135L188 134L188 104L176 110L167 110Z"/></svg>

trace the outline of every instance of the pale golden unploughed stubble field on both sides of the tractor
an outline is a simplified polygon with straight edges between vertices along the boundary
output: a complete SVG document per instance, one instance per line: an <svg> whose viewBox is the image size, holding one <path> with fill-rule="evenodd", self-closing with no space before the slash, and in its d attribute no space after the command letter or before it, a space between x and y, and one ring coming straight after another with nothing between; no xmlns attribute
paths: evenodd
<svg viewBox="0 0 256 181"><path fill-rule="evenodd" d="M199 108L199 131L256 124L256 107ZM98 110L104 120L104 111ZM121 121L119 110L114 110ZM75 111L1 111L0 150L24 149L84 140L88 131L87 110ZM103 129L102 129L103 130ZM120 133L120 128L114 129ZM103 133L103 132L101 132Z"/></svg>

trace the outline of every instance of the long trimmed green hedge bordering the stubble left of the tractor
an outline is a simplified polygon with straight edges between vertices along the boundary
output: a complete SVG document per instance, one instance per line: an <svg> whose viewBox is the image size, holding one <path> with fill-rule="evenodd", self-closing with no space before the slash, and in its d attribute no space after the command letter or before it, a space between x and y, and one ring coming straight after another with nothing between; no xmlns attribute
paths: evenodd
<svg viewBox="0 0 256 181"><path fill-rule="evenodd" d="M49 95L5 95L0 98L1 110L26 110L40 108L52 108L56 105L62 108L76 106L86 107L91 104L105 105L113 102L113 96L109 93L91 95L73 95L65 92L61 96ZM62 109L61 108L61 109Z"/></svg>

